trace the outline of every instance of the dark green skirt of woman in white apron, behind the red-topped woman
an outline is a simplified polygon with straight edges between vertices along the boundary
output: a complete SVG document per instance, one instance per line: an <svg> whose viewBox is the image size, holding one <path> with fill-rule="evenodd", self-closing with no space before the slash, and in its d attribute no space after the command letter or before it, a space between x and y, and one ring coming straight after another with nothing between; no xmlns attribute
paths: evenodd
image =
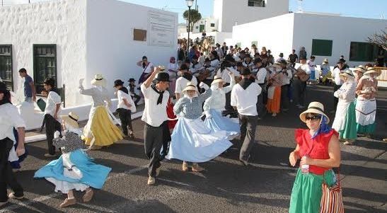
<svg viewBox="0 0 387 213"><path fill-rule="evenodd" d="M340 139L357 139L357 123L356 112L354 110L354 103L350 103L345 116L345 128L339 131Z"/></svg>

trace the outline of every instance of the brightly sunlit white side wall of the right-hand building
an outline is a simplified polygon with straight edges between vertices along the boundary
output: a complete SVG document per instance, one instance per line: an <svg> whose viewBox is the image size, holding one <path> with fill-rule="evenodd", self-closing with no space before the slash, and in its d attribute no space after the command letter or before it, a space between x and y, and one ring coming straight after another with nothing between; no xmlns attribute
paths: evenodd
<svg viewBox="0 0 387 213"><path fill-rule="evenodd" d="M274 18L267 18L261 21L236 25L233 27L232 44L235 45L241 42L242 50L245 47L250 49L251 42L258 42L258 50L266 47L272 51L275 59L279 52L287 55L287 51L291 52L291 43L293 41L293 14L287 13Z"/></svg>

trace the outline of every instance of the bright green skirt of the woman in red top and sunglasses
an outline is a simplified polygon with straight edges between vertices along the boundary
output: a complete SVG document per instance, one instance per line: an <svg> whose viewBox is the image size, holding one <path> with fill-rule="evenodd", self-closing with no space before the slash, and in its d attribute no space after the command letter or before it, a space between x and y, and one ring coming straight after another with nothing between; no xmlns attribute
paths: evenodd
<svg viewBox="0 0 387 213"><path fill-rule="evenodd" d="M332 170L325 171L325 183L329 186L335 183ZM319 213L322 185L323 175L303 174L299 169L291 190L289 213Z"/></svg>

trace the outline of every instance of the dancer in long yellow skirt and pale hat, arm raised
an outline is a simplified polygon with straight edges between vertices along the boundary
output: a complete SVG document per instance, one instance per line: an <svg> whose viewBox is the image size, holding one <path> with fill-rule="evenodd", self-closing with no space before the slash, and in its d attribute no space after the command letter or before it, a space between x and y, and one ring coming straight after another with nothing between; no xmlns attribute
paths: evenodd
<svg viewBox="0 0 387 213"><path fill-rule="evenodd" d="M82 86L84 79L79 80L79 93L93 98L88 122L83 129L83 139L86 140L86 145L91 145L91 140L95 142L92 149L101 149L102 146L109 146L114 142L122 140L122 132L110 118L108 108L105 102L110 105L108 90L105 88L105 79L100 74L96 74L91 85L93 88L85 89Z"/></svg>

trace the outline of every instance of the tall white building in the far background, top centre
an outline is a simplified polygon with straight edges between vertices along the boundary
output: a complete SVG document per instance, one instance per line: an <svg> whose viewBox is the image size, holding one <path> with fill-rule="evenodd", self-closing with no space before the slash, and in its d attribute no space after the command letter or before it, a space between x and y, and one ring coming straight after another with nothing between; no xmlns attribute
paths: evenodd
<svg viewBox="0 0 387 213"><path fill-rule="evenodd" d="M248 1L214 0L214 17L219 32L232 32L238 25L289 13L289 0L266 0L265 7L248 6Z"/></svg>

